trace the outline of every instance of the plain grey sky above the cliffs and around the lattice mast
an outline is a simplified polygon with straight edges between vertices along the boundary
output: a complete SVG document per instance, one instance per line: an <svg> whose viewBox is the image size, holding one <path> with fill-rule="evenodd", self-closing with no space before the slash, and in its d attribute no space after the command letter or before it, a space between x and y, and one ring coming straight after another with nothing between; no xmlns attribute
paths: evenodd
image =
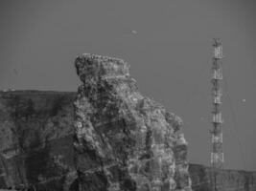
<svg viewBox="0 0 256 191"><path fill-rule="evenodd" d="M213 38L223 45L224 168L256 170L254 0L0 0L0 89L77 91L81 53L120 57L140 92L183 119L210 165Z"/></svg>

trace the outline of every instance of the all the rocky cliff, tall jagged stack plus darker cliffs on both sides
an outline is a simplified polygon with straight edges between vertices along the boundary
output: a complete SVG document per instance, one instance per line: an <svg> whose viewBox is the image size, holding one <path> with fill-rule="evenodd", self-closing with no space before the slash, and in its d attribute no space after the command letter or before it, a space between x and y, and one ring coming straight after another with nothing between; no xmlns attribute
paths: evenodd
<svg viewBox="0 0 256 191"><path fill-rule="evenodd" d="M210 190L181 119L138 92L125 61L83 54L76 67L77 93L0 92L0 189ZM222 174L228 190L256 190L255 173Z"/></svg>

